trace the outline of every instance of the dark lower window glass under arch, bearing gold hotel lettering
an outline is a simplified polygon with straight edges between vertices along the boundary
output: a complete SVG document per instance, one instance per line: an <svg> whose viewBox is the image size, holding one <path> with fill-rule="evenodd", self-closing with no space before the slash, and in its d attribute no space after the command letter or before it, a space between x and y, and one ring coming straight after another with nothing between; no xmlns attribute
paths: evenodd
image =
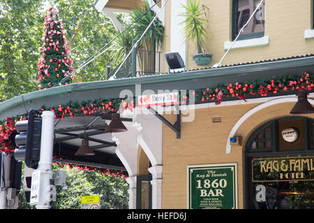
<svg viewBox="0 0 314 223"><path fill-rule="evenodd" d="M293 161L310 161L313 156L290 157ZM314 208L314 178L310 166L303 171L290 171L289 157L251 159L250 208L306 209ZM280 165L287 160L287 171ZM269 164L271 163L271 165ZM294 169L294 166L293 168ZM302 178L301 178L302 176Z"/></svg>

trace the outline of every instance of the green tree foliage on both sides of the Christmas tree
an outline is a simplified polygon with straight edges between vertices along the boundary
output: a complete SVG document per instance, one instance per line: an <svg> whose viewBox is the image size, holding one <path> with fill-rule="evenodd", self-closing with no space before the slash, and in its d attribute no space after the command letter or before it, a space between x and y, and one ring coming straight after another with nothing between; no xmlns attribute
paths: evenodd
<svg viewBox="0 0 314 223"><path fill-rule="evenodd" d="M38 90L37 63L43 45L44 15L50 6L59 10L63 30L77 69L117 36L112 22L90 0L1 0L0 1L0 102ZM110 64L103 54L77 72L80 82L96 81Z"/></svg>

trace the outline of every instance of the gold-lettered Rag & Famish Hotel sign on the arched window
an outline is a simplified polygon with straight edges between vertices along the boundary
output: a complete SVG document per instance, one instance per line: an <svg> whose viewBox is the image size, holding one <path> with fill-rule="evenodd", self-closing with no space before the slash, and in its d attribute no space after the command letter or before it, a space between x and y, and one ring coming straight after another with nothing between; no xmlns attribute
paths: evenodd
<svg viewBox="0 0 314 223"><path fill-rule="evenodd" d="M314 180L314 156L254 158L251 168L253 182Z"/></svg>

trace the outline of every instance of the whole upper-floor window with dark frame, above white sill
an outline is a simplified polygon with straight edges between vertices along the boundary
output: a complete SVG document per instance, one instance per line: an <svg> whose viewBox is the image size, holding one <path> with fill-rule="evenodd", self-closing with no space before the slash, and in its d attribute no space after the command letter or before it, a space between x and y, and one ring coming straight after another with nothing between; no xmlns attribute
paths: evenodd
<svg viewBox="0 0 314 223"><path fill-rule="evenodd" d="M260 3L260 0L233 0L232 1L232 40L239 34L240 30L248 22L248 19L253 14L255 8ZM250 22L239 36L238 40L250 38L260 38L264 36L264 2L253 15Z"/></svg>

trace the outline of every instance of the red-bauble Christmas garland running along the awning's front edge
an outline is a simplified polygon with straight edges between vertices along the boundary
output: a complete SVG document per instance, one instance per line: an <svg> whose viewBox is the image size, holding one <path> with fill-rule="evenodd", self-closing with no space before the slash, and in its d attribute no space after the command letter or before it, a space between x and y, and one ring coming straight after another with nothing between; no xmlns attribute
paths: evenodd
<svg viewBox="0 0 314 223"><path fill-rule="evenodd" d="M304 73L304 76L287 75L284 77L278 77L269 79L267 81L255 80L251 82L236 82L234 84L219 84L214 87L206 89L197 89L194 92L195 100L200 102L215 102L219 105L226 98L239 98L246 100L248 95L260 95L265 97L268 95L276 95L277 93L292 92L292 91L312 91L314 88L314 77L308 72ZM182 97L181 104L188 104L188 96ZM186 101L185 101L186 100ZM130 109L133 111L135 107L134 101L130 100L88 100L80 102L66 102L65 104L59 104L55 107L46 108L41 107L39 112L53 111L55 112L55 119L63 119L66 116L93 116L96 112L110 112ZM0 149L1 152L6 154L13 154L15 145L13 132L15 130L15 123L17 121L27 120L27 114L23 114L16 117L6 118L4 121L0 121ZM16 134L16 133L15 133Z"/></svg>

